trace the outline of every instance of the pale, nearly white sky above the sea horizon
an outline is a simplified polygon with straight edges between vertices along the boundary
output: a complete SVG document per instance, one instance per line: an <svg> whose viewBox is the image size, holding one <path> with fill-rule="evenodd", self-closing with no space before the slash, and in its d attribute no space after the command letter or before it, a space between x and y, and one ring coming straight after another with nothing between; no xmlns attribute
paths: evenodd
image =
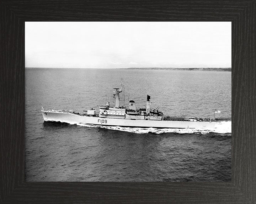
<svg viewBox="0 0 256 204"><path fill-rule="evenodd" d="M231 67L231 22L25 22L25 67Z"/></svg>

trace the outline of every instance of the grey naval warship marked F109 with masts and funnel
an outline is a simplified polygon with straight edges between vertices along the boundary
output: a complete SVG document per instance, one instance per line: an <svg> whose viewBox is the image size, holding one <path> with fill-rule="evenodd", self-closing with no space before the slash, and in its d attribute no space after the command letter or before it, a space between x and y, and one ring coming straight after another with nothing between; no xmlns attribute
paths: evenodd
<svg viewBox="0 0 256 204"><path fill-rule="evenodd" d="M119 105L119 94L121 88L114 88L113 97L116 99L114 106L106 102L105 106L100 106L99 111L90 109L84 113L73 110L50 110L42 107L44 121L60 121L70 124L121 126L130 128L194 128L194 129L213 129L215 118L196 118L196 117L171 117L165 116L164 112L158 108L150 109L150 96L147 95L146 108L135 108L135 102L129 101L129 106ZM215 110L216 111L216 110ZM214 112L215 115L215 112Z"/></svg>

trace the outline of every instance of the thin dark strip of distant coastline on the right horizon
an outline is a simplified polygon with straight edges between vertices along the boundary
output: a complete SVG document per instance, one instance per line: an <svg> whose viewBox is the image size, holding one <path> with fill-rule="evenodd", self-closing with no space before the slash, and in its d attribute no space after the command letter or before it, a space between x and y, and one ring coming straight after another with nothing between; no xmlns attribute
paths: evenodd
<svg viewBox="0 0 256 204"><path fill-rule="evenodd" d="M149 68L126 68L126 69L142 69L142 70L200 70L200 71L220 71L220 72L231 72L230 68L216 68L216 67L207 67L207 68L159 68L159 67L149 67Z"/></svg>

